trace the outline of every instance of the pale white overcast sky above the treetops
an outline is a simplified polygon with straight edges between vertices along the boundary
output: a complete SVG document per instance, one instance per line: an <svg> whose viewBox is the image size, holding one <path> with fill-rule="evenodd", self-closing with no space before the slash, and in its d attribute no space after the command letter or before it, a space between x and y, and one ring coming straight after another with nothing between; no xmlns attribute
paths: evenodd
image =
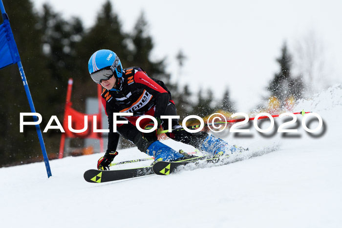
<svg viewBox="0 0 342 228"><path fill-rule="evenodd" d="M66 19L80 17L86 28L94 24L105 2L32 1L38 10L49 2ZM239 112L248 113L267 95L265 87L279 70L276 59L284 42L295 54L296 45L309 34L323 46L323 84L342 81L340 0L111 2L127 32L145 13L155 45L151 59L166 58L173 82L188 83L195 95L200 88L211 88L217 100L228 88ZM181 69L175 59L179 50L187 57Z"/></svg>

